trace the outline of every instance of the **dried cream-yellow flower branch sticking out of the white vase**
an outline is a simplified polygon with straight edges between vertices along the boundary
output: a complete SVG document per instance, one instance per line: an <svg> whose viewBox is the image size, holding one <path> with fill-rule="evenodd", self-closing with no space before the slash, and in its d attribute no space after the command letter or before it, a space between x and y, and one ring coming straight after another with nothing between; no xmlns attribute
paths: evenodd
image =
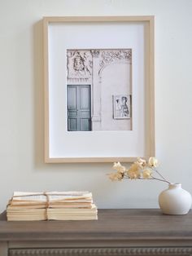
<svg viewBox="0 0 192 256"><path fill-rule="evenodd" d="M112 181L120 181L122 179L155 179L170 184L156 169L157 166L158 160L155 157L150 157L148 162L142 158L137 158L137 161L129 169L121 166L120 162L115 162L112 168L116 172L108 174L108 176ZM154 176L154 174L157 174L159 178Z"/></svg>

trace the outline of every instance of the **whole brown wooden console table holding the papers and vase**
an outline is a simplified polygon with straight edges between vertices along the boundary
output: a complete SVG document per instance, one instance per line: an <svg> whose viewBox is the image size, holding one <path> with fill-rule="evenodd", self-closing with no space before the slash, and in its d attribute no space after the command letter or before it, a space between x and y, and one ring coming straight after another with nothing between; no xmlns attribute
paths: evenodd
<svg viewBox="0 0 192 256"><path fill-rule="evenodd" d="M192 213L98 210L94 221L7 222L0 256L192 255Z"/></svg>

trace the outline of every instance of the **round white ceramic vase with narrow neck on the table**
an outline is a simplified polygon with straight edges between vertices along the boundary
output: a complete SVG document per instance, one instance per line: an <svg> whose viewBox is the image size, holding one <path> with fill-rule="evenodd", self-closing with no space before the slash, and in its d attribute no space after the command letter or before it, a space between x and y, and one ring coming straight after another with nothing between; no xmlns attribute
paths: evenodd
<svg viewBox="0 0 192 256"><path fill-rule="evenodd" d="M191 195L180 183L171 183L159 194L159 206L164 214L187 214L191 207Z"/></svg>

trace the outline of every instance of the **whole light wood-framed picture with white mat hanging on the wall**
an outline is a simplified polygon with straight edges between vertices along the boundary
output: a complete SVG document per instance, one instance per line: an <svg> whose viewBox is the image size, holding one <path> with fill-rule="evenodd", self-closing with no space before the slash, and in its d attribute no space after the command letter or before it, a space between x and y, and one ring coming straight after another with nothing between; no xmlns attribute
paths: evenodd
<svg viewBox="0 0 192 256"><path fill-rule="evenodd" d="M155 156L154 17L45 17L45 161Z"/></svg>

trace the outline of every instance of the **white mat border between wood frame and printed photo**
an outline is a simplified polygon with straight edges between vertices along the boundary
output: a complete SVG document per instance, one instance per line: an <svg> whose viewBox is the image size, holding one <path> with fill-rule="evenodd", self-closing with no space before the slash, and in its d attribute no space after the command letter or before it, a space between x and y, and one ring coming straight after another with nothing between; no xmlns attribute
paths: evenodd
<svg viewBox="0 0 192 256"><path fill-rule="evenodd" d="M147 49L145 23L50 23L49 152L50 158L142 157L148 155ZM133 130L68 131L67 49L132 49Z"/></svg>

